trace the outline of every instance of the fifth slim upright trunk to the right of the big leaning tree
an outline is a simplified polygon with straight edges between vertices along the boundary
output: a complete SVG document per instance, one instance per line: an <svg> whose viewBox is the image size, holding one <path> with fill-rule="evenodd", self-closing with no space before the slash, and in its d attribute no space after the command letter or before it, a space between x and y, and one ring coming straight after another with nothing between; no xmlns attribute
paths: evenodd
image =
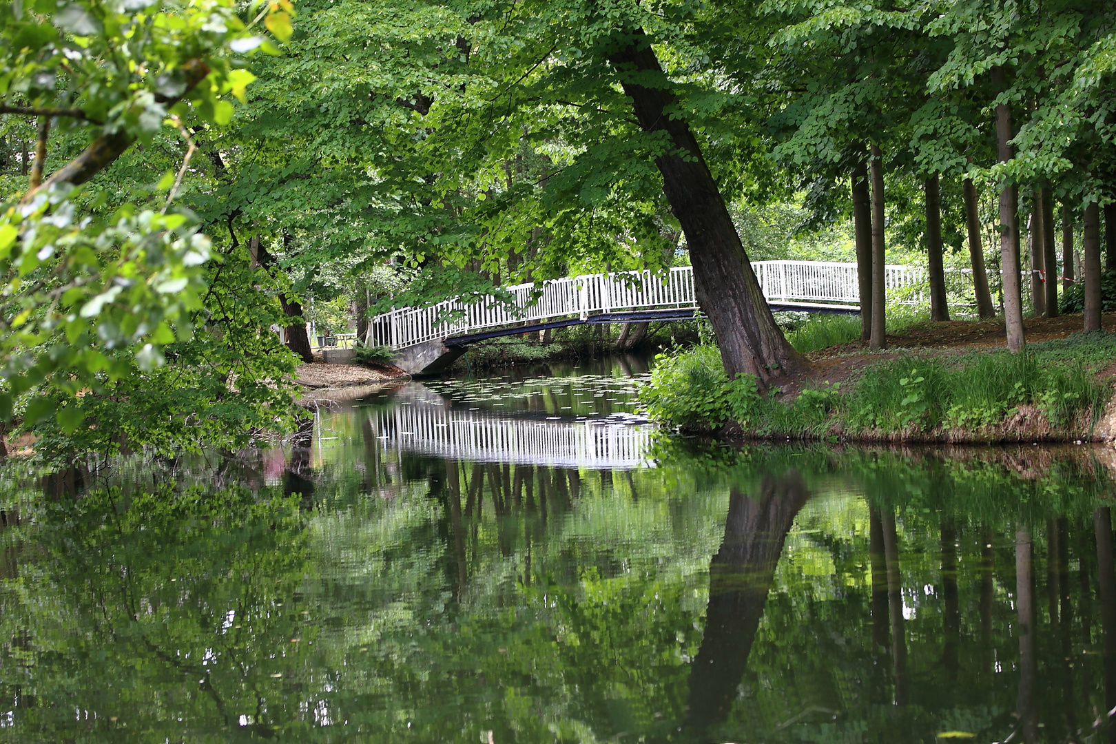
<svg viewBox="0 0 1116 744"><path fill-rule="evenodd" d="M1001 67L992 68L992 83L998 89L1003 89ZM1011 105L997 104L995 154L1000 163L1007 163L1016 156L1011 147ZM1016 185L1003 184L1000 189L1000 273L1003 278L1003 325L1010 351L1022 351L1027 344L1023 338L1023 300L1019 286L1018 201Z"/></svg>

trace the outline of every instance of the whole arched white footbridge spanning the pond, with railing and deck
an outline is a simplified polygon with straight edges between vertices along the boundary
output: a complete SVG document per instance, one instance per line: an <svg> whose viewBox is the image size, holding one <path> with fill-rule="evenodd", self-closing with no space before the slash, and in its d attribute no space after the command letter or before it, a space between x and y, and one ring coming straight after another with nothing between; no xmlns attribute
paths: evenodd
<svg viewBox="0 0 1116 744"><path fill-rule="evenodd" d="M772 310L860 311L855 263L756 261L752 268ZM888 265L885 276L888 291L925 281L918 267ZM454 298L385 312L371 320L366 342L400 350L397 364L408 373L435 374L485 338L586 322L677 320L698 310L691 267L565 277L503 291L500 299Z"/></svg>

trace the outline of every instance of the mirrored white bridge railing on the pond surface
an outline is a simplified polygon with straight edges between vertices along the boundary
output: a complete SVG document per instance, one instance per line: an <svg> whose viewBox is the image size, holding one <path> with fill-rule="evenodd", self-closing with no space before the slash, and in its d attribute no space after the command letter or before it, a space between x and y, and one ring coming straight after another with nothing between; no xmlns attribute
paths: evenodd
<svg viewBox="0 0 1116 744"><path fill-rule="evenodd" d="M396 393L395 405L371 415L385 445L443 460L581 470L651 464L654 426L631 414L584 419L497 415L412 384Z"/></svg>

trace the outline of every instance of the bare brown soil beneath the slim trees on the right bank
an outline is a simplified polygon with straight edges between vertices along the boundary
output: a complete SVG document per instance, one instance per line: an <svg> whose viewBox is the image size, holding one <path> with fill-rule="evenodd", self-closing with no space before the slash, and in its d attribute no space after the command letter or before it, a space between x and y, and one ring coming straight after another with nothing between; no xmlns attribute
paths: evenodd
<svg viewBox="0 0 1116 744"><path fill-rule="evenodd" d="M1026 318L1023 332L1028 344L1051 341L1080 331L1083 323L1080 313L1057 318ZM1108 331L1116 331L1116 312L1106 313L1101 318L1101 327ZM782 390L783 394L793 396L804 386L824 383L840 383L844 386L847 381L859 377L865 367L912 351L931 356L951 355L979 349L1004 349L1007 344L1002 320L981 322L926 320L898 334L888 334L887 348L881 351L869 351L867 341L852 341L812 351L806 355L811 369L788 379L783 383ZM1098 376L1116 376L1116 363L1103 369Z"/></svg>

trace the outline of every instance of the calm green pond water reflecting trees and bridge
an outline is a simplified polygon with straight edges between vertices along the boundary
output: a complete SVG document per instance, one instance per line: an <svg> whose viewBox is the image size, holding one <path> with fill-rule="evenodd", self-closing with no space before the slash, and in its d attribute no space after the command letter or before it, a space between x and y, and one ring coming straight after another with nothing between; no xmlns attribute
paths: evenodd
<svg viewBox="0 0 1116 744"><path fill-rule="evenodd" d="M735 450L551 371L9 468L0 740L1114 741L1107 453Z"/></svg>

